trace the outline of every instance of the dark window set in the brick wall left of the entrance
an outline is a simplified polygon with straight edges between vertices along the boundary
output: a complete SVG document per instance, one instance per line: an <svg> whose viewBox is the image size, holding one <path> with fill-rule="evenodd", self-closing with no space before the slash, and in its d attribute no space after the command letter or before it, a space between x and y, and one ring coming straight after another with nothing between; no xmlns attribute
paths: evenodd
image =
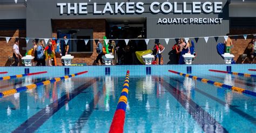
<svg viewBox="0 0 256 133"><path fill-rule="evenodd" d="M63 38L66 35L68 39L78 39L69 40L69 52L71 53L84 53L93 51L93 41L89 40L87 45L85 45L84 39L93 39L92 29L59 29L57 33L58 38Z"/></svg>

